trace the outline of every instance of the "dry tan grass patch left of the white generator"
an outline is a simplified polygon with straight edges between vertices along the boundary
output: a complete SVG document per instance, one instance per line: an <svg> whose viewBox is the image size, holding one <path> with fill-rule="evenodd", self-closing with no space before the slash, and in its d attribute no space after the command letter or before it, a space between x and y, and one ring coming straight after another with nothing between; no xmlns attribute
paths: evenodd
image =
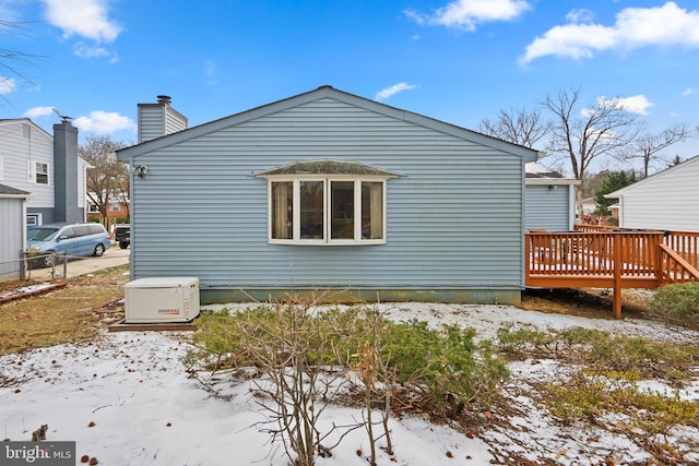
<svg viewBox="0 0 699 466"><path fill-rule="evenodd" d="M95 310L123 298L128 267L73 278L62 289L0 306L0 355L94 337L104 316Z"/></svg>

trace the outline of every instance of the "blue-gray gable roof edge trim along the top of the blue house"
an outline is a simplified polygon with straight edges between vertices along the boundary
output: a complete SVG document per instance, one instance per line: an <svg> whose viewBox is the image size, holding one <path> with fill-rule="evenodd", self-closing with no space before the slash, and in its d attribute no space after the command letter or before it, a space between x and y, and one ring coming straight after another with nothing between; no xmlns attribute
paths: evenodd
<svg viewBox="0 0 699 466"><path fill-rule="evenodd" d="M538 152L509 143L497 138L491 138L486 134L482 134L465 128L457 127L454 124L446 123L443 121L436 120L434 118L425 117L418 113L413 113L406 110L402 110L395 107L388 106L386 104L378 103L376 100L369 100L364 97L356 96L343 91L335 89L331 86L321 86L315 91L310 91L304 94L298 94L293 97L288 97L282 100L274 101L272 104L263 105L261 107L253 108L240 113L235 113L229 117L225 117L218 120L214 120L208 123L192 127L187 130L179 131L177 133L167 134L151 141L143 142L130 147L126 147L117 151L117 159L128 160L131 157L138 157L139 155L146 154L158 148L167 147L173 144L177 144L183 141L188 141L194 138L199 138L205 134L213 133L215 131L229 128L236 124L245 123L247 121L256 120L269 115L273 115L289 108L298 107L304 104L308 104L315 100L331 98L337 101L342 101L348 105L353 105L358 108L364 108L369 111L374 111L380 115L384 115L390 118L395 118L402 121L406 121L413 124L417 124L424 128L433 129L446 134L453 135L466 141L471 141L487 147L496 148L506 153L510 153L522 157L525 162L534 162L538 158Z"/></svg>

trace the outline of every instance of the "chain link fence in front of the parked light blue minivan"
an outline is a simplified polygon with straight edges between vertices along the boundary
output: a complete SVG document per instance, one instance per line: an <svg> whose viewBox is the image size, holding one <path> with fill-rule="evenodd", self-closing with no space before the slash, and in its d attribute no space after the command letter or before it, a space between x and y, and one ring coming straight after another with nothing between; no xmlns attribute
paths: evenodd
<svg viewBox="0 0 699 466"><path fill-rule="evenodd" d="M68 254L66 252L36 254L23 252L22 259L0 262L0 283L50 279L64 282L68 277Z"/></svg>

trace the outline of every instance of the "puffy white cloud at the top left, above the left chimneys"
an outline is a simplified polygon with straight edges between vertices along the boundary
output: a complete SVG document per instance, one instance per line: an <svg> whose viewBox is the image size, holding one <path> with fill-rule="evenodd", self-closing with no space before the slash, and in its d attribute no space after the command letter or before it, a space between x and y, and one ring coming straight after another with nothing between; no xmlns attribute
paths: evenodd
<svg viewBox="0 0 699 466"><path fill-rule="evenodd" d="M108 0L42 0L46 17L63 31L63 37L78 35L97 43L111 43L121 27L108 17Z"/></svg>

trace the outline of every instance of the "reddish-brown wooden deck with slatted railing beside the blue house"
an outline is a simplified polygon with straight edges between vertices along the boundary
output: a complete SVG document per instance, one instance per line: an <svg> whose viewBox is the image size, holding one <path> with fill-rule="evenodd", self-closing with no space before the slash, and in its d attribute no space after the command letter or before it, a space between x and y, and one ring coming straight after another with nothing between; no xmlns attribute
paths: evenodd
<svg viewBox="0 0 699 466"><path fill-rule="evenodd" d="M603 230L525 235L525 285L543 288L614 288L614 316L621 316L621 288L657 288L699 280L699 232Z"/></svg>

